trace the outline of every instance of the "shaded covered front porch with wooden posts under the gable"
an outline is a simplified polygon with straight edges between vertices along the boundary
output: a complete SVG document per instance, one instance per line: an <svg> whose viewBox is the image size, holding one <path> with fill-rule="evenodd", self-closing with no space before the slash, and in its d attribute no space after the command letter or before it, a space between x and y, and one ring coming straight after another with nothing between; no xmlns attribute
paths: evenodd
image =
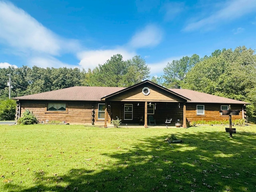
<svg viewBox="0 0 256 192"><path fill-rule="evenodd" d="M152 116L156 125L149 123ZM146 118L145 118L146 117ZM121 126L175 127L179 122L186 128L186 103L185 102L106 102L104 127L111 126L112 119L121 119ZM166 119L172 121L166 123Z"/></svg>

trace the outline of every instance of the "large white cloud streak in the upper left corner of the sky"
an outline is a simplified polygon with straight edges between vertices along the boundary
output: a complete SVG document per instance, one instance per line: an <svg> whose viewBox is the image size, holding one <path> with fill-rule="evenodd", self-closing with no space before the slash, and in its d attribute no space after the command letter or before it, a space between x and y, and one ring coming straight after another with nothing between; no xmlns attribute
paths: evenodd
<svg viewBox="0 0 256 192"><path fill-rule="evenodd" d="M0 26L0 41L20 52L58 55L79 47L75 40L60 38L9 2L0 1Z"/></svg>

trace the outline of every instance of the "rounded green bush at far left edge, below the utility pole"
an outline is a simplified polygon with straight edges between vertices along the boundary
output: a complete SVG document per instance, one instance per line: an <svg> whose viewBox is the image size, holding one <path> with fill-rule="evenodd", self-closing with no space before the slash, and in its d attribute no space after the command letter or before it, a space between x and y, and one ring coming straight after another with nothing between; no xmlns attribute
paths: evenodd
<svg viewBox="0 0 256 192"><path fill-rule="evenodd" d="M16 101L11 99L0 100L0 121L14 120Z"/></svg>

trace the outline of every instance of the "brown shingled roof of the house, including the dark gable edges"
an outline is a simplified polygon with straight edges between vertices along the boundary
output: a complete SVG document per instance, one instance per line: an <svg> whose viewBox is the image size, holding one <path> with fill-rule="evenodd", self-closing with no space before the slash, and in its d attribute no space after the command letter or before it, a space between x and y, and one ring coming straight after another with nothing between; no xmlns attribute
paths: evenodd
<svg viewBox="0 0 256 192"><path fill-rule="evenodd" d="M158 88L185 99L188 103L250 104L248 102L224 98L188 89L166 89L149 80L145 80L128 88L124 87L86 87L74 86L60 90L15 97L15 100L53 100L53 101L102 101L116 94L129 91L136 86L150 83Z"/></svg>

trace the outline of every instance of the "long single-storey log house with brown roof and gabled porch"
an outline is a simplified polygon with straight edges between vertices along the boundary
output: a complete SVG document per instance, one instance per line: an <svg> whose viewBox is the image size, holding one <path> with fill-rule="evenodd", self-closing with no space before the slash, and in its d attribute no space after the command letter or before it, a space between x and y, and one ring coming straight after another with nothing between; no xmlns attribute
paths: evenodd
<svg viewBox="0 0 256 192"><path fill-rule="evenodd" d="M18 119L28 109L38 118L65 121L74 124L104 124L122 119L124 124L144 124L148 116L156 124L166 119L180 122L184 128L196 120L228 120L220 110L240 110L236 118L244 118L247 102L214 96L188 89L167 89L149 80L128 88L75 86L13 98L17 100Z"/></svg>

